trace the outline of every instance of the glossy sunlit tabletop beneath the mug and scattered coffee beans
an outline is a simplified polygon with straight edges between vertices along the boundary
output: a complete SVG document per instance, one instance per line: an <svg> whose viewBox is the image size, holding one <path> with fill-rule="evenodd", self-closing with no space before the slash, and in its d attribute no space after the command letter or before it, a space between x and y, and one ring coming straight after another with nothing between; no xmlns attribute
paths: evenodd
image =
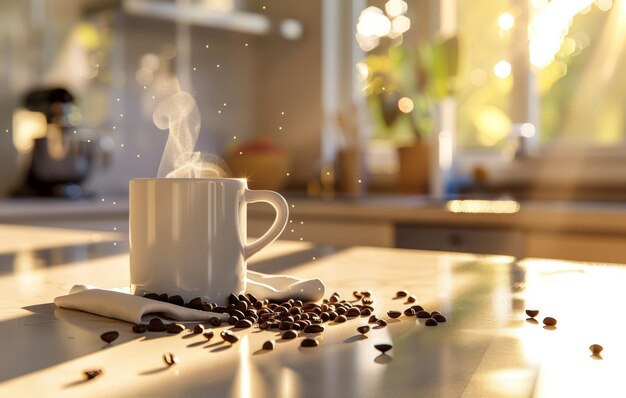
<svg viewBox="0 0 626 398"><path fill-rule="evenodd" d="M262 343L269 331L236 332L229 347L183 332L133 334L131 325L55 308L74 284L129 283L126 235L0 226L0 391L6 396L528 397L623 396L626 269L390 248L276 242L251 269L319 277L327 296L369 289L375 313L418 303L447 316L426 327L400 317L366 338L365 318L328 324L317 348ZM526 319L536 308L555 328ZM103 345L99 335L120 337ZM390 343L389 355L374 344ZM591 344L602 357L591 357ZM167 369L161 356L180 357ZM82 381L84 370L104 374Z"/></svg>

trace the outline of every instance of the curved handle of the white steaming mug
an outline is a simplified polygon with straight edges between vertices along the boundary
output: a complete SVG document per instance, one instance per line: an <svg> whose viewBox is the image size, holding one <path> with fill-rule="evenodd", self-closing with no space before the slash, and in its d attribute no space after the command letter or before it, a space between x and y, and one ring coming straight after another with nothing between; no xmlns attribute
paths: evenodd
<svg viewBox="0 0 626 398"><path fill-rule="evenodd" d="M254 253L274 242L283 232L285 226L287 225L287 219L289 218L289 206L287 206L285 198L274 191L252 191L246 189L244 199L246 203L269 203L276 211L276 218L274 219L274 223L270 229L268 229L267 232L264 233L259 239L245 246L244 255L247 260Z"/></svg>

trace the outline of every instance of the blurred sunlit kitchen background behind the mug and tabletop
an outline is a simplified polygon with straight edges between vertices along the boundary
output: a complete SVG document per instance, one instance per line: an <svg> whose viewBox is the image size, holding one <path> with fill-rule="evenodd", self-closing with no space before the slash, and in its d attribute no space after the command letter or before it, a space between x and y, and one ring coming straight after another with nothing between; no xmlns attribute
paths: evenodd
<svg viewBox="0 0 626 398"><path fill-rule="evenodd" d="M154 109L186 91L196 149L288 198L284 239L626 261L623 0L15 0L0 22L0 221L127 229Z"/></svg>

